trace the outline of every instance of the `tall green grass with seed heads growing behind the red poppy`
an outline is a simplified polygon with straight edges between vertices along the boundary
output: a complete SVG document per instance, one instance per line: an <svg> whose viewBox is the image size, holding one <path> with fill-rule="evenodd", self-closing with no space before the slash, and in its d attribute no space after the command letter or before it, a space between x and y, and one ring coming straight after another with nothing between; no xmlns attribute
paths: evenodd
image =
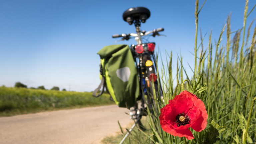
<svg viewBox="0 0 256 144"><path fill-rule="evenodd" d="M155 144L213 143L210 140L210 125L215 125L216 127L226 127L222 127L222 132L216 134L219 138L215 139L216 143L256 143L256 111L255 105L253 105L253 99L256 96L256 27L254 28L252 39L248 41L252 23L248 28L246 36L247 17L253 9L248 12L248 0L246 0L243 28L235 32L231 32L231 14L228 15L227 22L220 32L218 41L212 42L212 32L210 32L208 48L204 50L202 35L201 44L199 47L197 45L199 12L203 7L198 10L198 3L198 0L196 0L195 67L193 77L188 77L183 67L182 57L178 56L177 86L173 87L171 53L167 68L165 69L164 65L162 65L161 74L158 74L158 80L161 80L164 91L163 98L160 97L159 92L156 92L152 96L155 101L153 111L148 109L149 126L152 134L154 134L150 141ZM225 34L224 31L226 31L227 41L225 45L221 45L222 36ZM201 52L199 57L197 57L200 47ZM216 48L215 52L213 52L213 47ZM212 53L215 53L215 55ZM160 109L168 104L168 100L173 99L175 95L182 92L183 72L187 77L187 80L184 80L187 86L185 89L196 94L204 102L208 113L206 129L202 132L190 129L195 139L187 142L183 138L174 137L164 132L159 121ZM188 89L187 82L191 84L191 89Z"/></svg>

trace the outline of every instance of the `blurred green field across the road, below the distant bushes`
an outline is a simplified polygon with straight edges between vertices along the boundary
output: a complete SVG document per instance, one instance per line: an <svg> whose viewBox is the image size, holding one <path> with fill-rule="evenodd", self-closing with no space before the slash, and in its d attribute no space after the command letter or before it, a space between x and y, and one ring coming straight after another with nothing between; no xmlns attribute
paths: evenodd
<svg viewBox="0 0 256 144"><path fill-rule="evenodd" d="M0 87L0 116L110 104L108 94Z"/></svg>

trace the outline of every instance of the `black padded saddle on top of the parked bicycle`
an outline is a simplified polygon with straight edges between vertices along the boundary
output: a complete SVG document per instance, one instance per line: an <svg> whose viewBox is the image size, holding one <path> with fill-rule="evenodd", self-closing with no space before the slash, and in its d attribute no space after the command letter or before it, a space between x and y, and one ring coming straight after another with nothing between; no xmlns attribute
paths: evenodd
<svg viewBox="0 0 256 144"><path fill-rule="evenodd" d="M134 20L141 20L142 23L145 23L149 17L150 11L145 7L129 8L123 13L124 21L128 22L130 25L133 24Z"/></svg>

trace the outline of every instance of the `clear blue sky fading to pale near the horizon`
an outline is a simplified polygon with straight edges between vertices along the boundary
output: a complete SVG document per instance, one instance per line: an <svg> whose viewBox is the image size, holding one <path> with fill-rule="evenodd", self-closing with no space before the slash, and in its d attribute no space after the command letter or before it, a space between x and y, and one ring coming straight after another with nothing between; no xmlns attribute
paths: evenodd
<svg viewBox="0 0 256 144"><path fill-rule="evenodd" d="M199 6L202 3L200 0ZM249 1L248 11L255 3ZM175 73L176 53L181 51L184 67L192 76L187 62L194 66L194 56L189 51L194 51L195 0L12 0L0 4L0 85L12 87L20 81L28 87L94 90L100 83L96 53L106 45L136 43L134 39L115 43L117 39L111 36L135 32L134 25L123 21L122 13L137 6L151 11L142 30L165 28L162 34L167 37L149 39L159 46L163 60L166 61L165 49L169 53L172 50ZM207 32L205 48L209 31L212 29L213 39L218 40L230 12L231 31L242 28L244 7L245 0L206 1L199 14L202 34ZM255 16L256 10L247 18L247 28ZM223 44L225 39L226 31Z"/></svg>

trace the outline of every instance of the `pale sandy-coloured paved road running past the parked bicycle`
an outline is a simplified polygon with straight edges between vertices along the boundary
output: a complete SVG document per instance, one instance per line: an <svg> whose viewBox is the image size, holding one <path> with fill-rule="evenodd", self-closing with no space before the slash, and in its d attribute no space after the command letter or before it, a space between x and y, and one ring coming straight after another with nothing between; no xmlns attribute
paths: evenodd
<svg viewBox="0 0 256 144"><path fill-rule="evenodd" d="M0 144L98 144L132 122L116 105L0 118Z"/></svg>

